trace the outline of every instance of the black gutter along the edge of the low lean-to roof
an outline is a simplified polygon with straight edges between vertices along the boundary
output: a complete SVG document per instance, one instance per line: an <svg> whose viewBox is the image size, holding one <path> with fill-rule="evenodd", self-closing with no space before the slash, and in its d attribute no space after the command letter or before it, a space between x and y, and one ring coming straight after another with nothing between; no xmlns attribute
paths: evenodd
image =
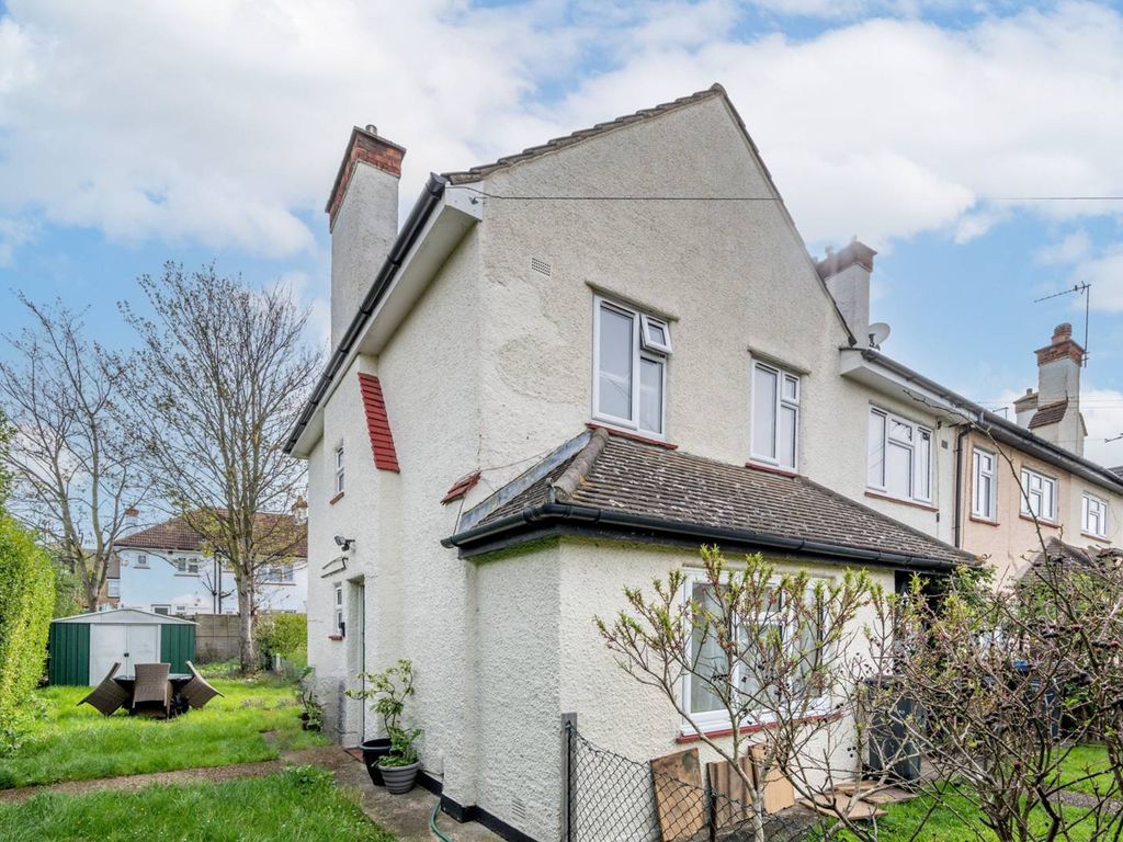
<svg viewBox="0 0 1123 842"><path fill-rule="evenodd" d="M482 546L491 544L501 539L506 539L515 534L528 531L540 531L546 525L574 527L576 529L596 525L606 531L640 530L655 536L686 539L699 543L713 541L716 543L733 542L739 544L751 544L763 549L783 550L785 552L805 553L809 556L830 558L841 558L848 561L860 561L873 565L887 565L892 567L909 567L920 570L948 571L956 567L955 561L926 558L923 556L910 556L900 552L884 552L882 550L866 550L857 547L846 547L838 543L823 541L810 541L803 538L789 538L775 534L773 532L758 532L749 529L729 529L724 527L712 527L703 523L690 523L685 521L672 521L664 518L655 518L647 514L632 514L629 512L614 512L605 509L594 509L591 506L568 505L564 503L544 503L521 512L500 518L492 523L465 530L455 536L450 536L441 541L445 547L456 547L460 549L462 556L477 555L473 552ZM510 544L510 541L506 541ZM964 557L964 564L968 558Z"/></svg>

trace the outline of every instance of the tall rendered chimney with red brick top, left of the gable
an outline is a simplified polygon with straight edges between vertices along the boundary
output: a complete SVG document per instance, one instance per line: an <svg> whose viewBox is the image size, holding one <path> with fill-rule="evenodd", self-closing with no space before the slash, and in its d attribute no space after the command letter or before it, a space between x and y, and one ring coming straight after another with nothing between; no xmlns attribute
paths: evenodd
<svg viewBox="0 0 1123 842"><path fill-rule="evenodd" d="M331 231L331 347L337 348L398 235L405 149L374 126L351 130L325 210Z"/></svg>

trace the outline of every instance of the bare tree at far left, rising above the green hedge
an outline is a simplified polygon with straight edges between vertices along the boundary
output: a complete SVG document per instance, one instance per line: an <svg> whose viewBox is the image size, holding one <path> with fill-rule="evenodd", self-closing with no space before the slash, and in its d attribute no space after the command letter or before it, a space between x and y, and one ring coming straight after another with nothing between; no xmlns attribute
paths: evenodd
<svg viewBox="0 0 1123 842"><path fill-rule="evenodd" d="M80 577L93 611L126 511L147 493L140 442L120 420L126 363L86 341L80 314L61 302L20 301L33 327L6 337L15 358L0 363L0 397L15 428L4 456L11 510Z"/></svg>

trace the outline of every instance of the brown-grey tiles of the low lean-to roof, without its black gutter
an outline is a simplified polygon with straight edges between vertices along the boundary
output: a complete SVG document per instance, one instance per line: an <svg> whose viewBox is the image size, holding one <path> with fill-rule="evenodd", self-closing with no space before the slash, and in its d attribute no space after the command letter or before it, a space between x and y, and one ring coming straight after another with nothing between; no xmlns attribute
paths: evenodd
<svg viewBox="0 0 1123 842"><path fill-rule="evenodd" d="M971 558L805 477L729 465L603 430L478 525L551 502L937 562Z"/></svg>

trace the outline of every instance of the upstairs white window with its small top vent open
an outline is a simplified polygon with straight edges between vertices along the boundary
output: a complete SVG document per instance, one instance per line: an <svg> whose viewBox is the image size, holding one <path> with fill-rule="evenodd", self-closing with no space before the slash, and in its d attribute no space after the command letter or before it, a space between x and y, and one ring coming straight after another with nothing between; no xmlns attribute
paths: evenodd
<svg viewBox="0 0 1123 842"><path fill-rule="evenodd" d="M594 303L593 418L661 438L670 326L601 298Z"/></svg>

